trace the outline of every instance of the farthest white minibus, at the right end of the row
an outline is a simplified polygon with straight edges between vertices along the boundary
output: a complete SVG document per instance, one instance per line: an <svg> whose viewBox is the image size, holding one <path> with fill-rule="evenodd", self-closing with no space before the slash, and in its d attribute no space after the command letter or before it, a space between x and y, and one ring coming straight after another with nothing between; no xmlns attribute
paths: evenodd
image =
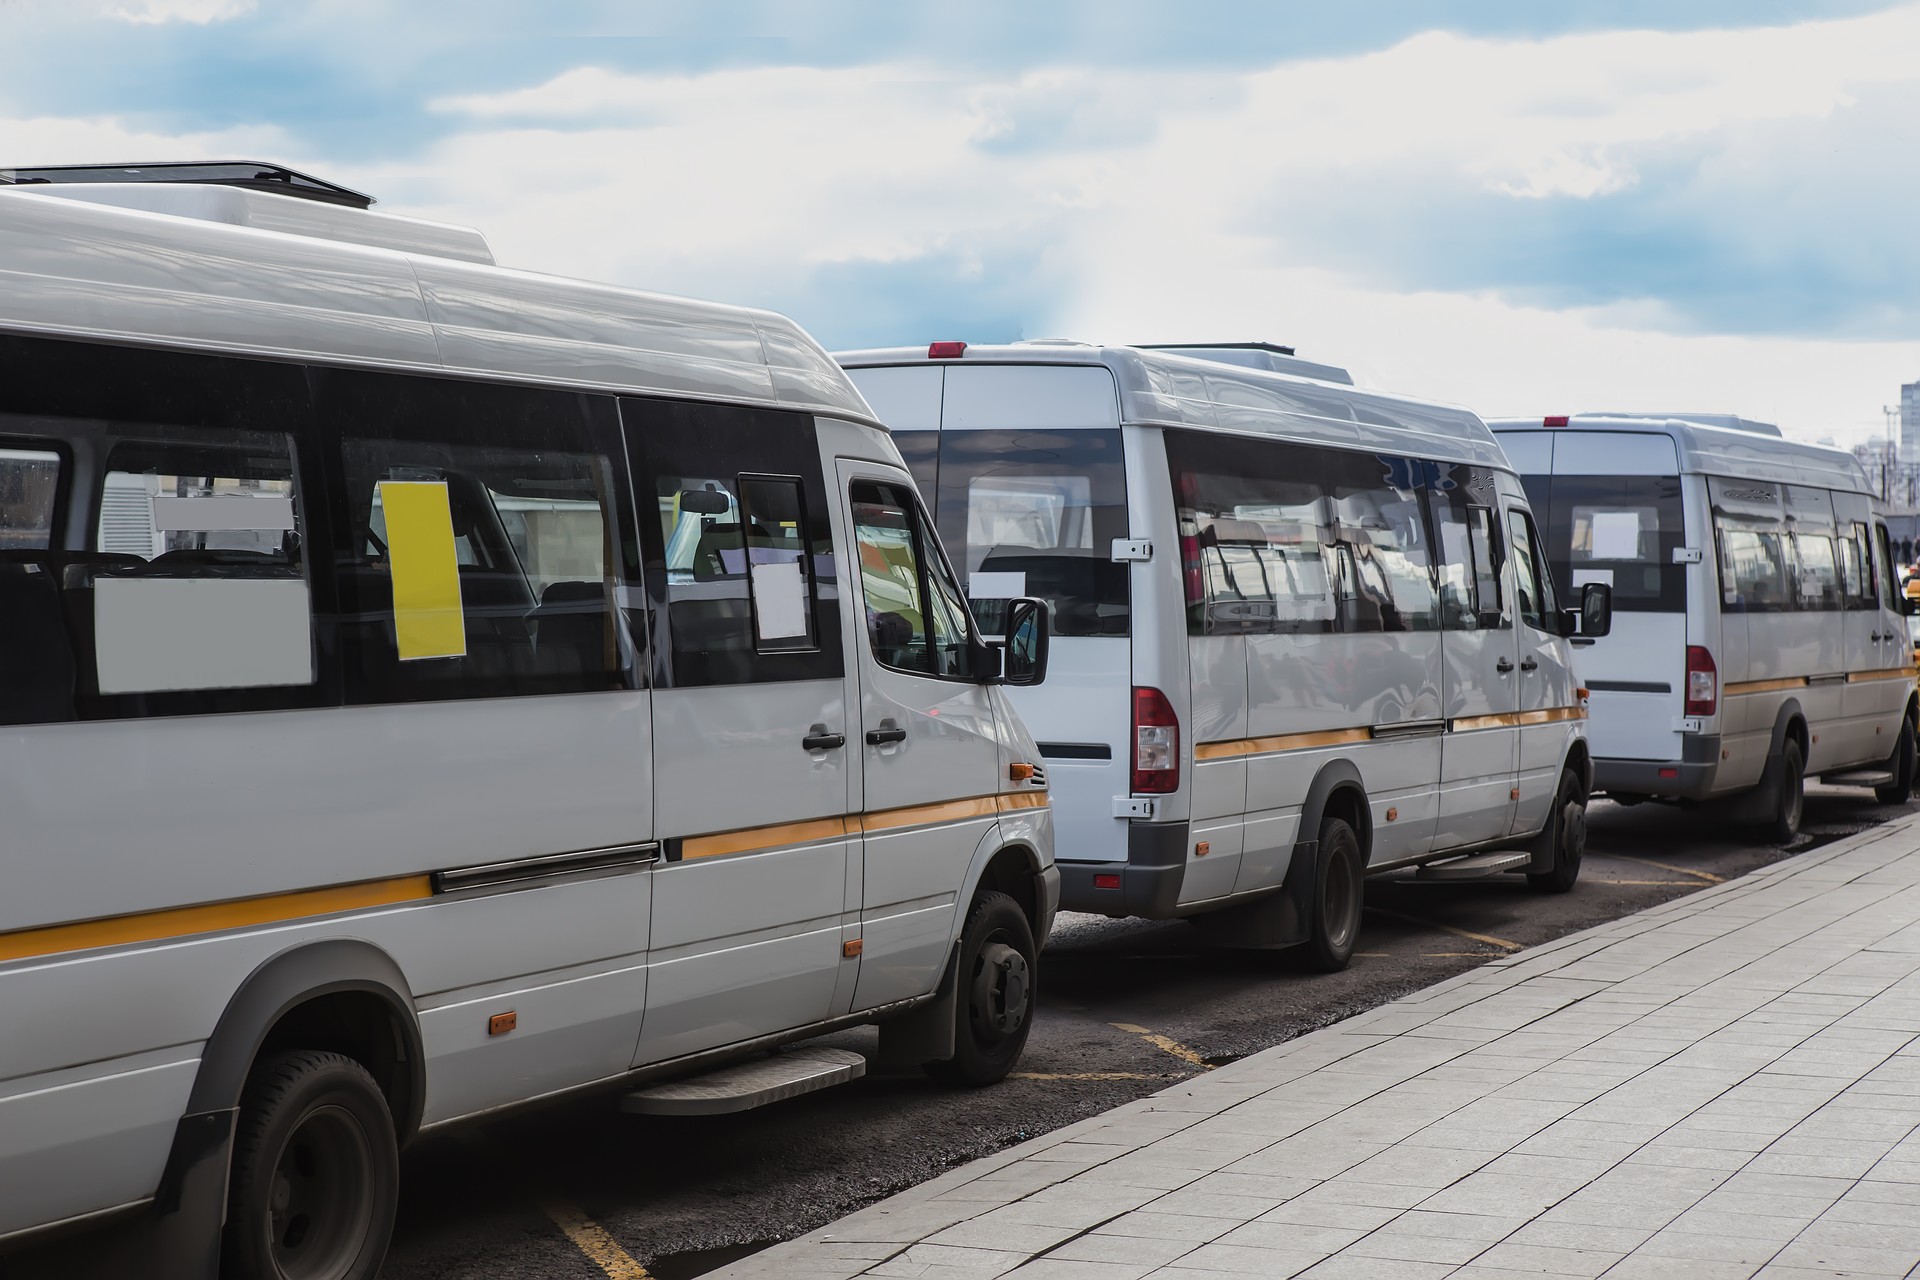
<svg viewBox="0 0 1920 1280"><path fill-rule="evenodd" d="M1574 641L1596 789L1628 804L1751 793L1780 842L1809 775L1907 800L1908 604L1853 455L1732 415L1492 426L1555 585L1613 587L1613 633Z"/></svg>

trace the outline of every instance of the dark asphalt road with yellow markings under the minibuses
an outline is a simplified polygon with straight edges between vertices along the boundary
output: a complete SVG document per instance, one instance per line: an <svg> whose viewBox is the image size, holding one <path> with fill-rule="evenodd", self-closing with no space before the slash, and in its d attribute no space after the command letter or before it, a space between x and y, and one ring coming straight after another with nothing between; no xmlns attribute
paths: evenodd
<svg viewBox="0 0 1920 1280"><path fill-rule="evenodd" d="M735 1117L659 1119L605 1096L417 1144L388 1280L682 1280L954 1165L1150 1094L1523 946L1818 848L1901 810L1811 787L1805 835L1759 842L1726 812L1592 810L1574 892L1519 877L1371 881L1359 952L1311 975L1212 952L1185 923L1062 915L1020 1075L987 1090L868 1077ZM828 1040L872 1048L874 1032ZM8 1280L96 1274L90 1244L0 1263ZM643 1270L641 1270L643 1268Z"/></svg>

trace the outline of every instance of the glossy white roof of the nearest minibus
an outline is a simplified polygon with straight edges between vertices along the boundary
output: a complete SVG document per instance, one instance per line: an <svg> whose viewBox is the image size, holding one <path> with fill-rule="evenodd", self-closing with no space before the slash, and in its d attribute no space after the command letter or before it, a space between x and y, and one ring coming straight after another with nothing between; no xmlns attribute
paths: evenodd
<svg viewBox="0 0 1920 1280"><path fill-rule="evenodd" d="M0 330L874 422L772 311L507 271L467 228L234 188L0 188Z"/></svg>

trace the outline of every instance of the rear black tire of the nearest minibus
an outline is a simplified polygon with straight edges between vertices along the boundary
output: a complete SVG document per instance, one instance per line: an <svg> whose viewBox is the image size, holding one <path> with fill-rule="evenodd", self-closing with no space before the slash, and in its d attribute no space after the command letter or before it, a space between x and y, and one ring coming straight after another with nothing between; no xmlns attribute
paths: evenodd
<svg viewBox="0 0 1920 1280"><path fill-rule="evenodd" d="M240 1096L223 1280L374 1280L399 1203L394 1115L367 1069L298 1050Z"/></svg>

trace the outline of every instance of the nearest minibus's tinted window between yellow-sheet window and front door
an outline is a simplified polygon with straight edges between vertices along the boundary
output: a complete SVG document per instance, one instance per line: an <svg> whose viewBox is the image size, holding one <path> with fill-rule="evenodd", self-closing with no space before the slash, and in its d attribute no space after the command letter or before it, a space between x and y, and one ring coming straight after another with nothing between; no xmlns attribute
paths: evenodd
<svg viewBox="0 0 1920 1280"><path fill-rule="evenodd" d="M812 416L639 397L620 415L653 510L659 679L837 677L839 580Z"/></svg>

